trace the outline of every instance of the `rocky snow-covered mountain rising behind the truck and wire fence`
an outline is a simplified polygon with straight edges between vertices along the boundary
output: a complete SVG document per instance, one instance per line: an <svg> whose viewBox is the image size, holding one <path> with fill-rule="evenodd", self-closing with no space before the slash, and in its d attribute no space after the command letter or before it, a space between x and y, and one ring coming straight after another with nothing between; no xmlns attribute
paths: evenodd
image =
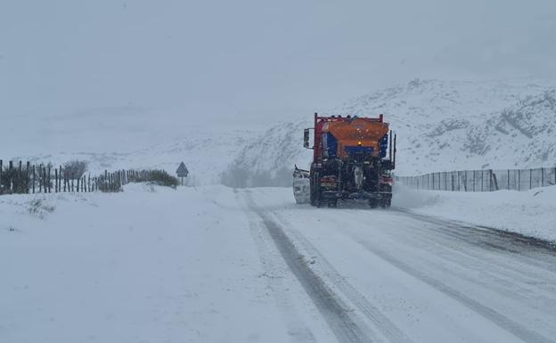
<svg viewBox="0 0 556 343"><path fill-rule="evenodd" d="M556 161L556 83L531 78L503 81L413 80L346 102L331 113L385 115L397 131L400 175L507 167L549 167ZM270 128L247 145L225 173L225 184L290 184L302 148L307 113L297 123Z"/></svg>

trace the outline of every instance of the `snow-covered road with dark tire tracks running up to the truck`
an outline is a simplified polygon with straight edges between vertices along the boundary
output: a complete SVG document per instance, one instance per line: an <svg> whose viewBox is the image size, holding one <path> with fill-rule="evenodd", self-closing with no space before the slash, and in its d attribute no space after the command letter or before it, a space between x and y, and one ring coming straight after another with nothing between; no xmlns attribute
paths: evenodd
<svg viewBox="0 0 556 343"><path fill-rule="evenodd" d="M556 341L556 251L543 243L280 191L241 195L338 341Z"/></svg>

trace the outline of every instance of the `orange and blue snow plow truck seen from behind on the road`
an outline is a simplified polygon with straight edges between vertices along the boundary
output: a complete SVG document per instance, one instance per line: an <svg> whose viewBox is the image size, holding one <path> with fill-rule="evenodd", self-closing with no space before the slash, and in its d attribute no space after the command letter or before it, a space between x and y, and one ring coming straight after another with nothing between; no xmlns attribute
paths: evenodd
<svg viewBox="0 0 556 343"><path fill-rule="evenodd" d="M390 206L396 135L382 114L363 118L315 113L315 127L305 129L303 138L304 147L313 149L313 162L310 170L296 166L293 171L296 202L336 207L338 200L364 200L371 208Z"/></svg>

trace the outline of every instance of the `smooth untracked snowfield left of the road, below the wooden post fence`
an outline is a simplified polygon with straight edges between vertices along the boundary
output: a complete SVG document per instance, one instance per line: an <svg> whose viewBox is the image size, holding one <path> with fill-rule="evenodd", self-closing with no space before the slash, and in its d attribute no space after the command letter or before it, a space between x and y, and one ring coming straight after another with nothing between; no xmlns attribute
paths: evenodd
<svg viewBox="0 0 556 343"><path fill-rule="evenodd" d="M1 197L0 341L286 341L236 198L143 184Z"/></svg>

